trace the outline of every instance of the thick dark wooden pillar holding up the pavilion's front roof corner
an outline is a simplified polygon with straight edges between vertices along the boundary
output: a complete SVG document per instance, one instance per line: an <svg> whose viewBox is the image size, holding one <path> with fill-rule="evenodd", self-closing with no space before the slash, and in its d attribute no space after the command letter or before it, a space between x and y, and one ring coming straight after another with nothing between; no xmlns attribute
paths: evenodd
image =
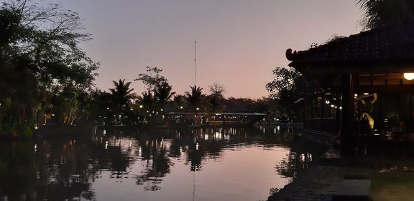
<svg viewBox="0 0 414 201"><path fill-rule="evenodd" d="M353 75L342 75L341 156L355 156L356 136L353 134Z"/></svg>

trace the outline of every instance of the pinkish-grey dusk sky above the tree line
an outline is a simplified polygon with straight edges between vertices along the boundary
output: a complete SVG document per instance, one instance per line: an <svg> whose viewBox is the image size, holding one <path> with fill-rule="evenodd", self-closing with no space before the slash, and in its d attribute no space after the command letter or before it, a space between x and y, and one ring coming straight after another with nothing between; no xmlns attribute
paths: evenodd
<svg viewBox="0 0 414 201"><path fill-rule="evenodd" d="M92 41L81 43L100 62L96 84L133 81L146 66L159 67L173 91L194 85L197 40L197 85L226 87L226 97L261 98L272 70L287 66L285 52L307 50L333 34L362 30L355 0L67 0L64 9L83 19Z"/></svg>

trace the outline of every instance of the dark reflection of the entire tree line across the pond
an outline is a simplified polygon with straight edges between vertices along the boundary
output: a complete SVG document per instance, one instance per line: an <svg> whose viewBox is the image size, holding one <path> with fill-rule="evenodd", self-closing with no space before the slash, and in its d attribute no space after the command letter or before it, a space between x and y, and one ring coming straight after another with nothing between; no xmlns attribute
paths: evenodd
<svg viewBox="0 0 414 201"><path fill-rule="evenodd" d="M41 140L35 142L36 148L34 142L0 144L0 198L22 200L24 195L23 200L94 200L91 186L101 178L101 171L109 171L110 179L124 180L134 164L142 167L134 177L136 184L145 191L157 191L174 165L173 158L185 160L190 171L202 171L206 161L221 158L223 149L257 143L264 147L289 144L295 158L286 158L277 170L295 177L306 167L299 160L301 154L313 154L301 148L306 143L292 143L290 134L275 134L270 129L266 134L250 129L141 131L134 138L114 138L111 133L95 140Z"/></svg>

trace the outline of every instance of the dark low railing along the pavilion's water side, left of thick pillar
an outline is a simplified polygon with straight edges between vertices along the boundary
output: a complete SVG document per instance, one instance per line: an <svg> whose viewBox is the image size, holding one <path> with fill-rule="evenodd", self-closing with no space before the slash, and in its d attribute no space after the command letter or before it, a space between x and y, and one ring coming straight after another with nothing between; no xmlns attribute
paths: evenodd
<svg viewBox="0 0 414 201"><path fill-rule="evenodd" d="M337 118L313 118L305 120L304 129L336 136L339 125L337 125Z"/></svg>

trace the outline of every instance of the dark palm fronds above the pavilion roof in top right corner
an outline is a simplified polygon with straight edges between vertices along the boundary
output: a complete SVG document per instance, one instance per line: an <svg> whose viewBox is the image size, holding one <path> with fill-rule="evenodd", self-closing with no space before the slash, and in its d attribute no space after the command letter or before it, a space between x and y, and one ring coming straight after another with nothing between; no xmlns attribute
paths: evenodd
<svg viewBox="0 0 414 201"><path fill-rule="evenodd" d="M414 18L412 0L356 0L365 17L362 25L372 29L381 25L400 24Z"/></svg>

